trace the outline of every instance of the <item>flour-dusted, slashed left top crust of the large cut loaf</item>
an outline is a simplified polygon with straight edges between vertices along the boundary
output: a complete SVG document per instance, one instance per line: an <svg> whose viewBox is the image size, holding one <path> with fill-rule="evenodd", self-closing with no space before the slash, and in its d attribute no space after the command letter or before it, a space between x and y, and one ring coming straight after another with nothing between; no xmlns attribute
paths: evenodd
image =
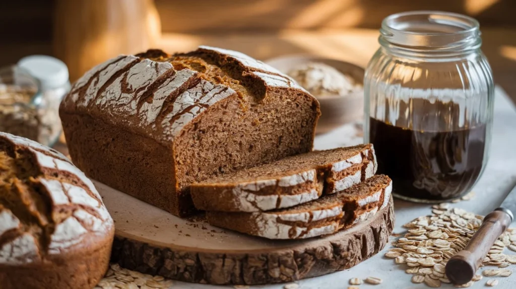
<svg viewBox="0 0 516 289"><path fill-rule="evenodd" d="M195 71L175 71L169 62L119 56L81 77L63 99L62 108L105 110L100 114L104 121L120 122L136 131L157 131L153 137L166 143L206 108L235 93L200 79Z"/></svg>

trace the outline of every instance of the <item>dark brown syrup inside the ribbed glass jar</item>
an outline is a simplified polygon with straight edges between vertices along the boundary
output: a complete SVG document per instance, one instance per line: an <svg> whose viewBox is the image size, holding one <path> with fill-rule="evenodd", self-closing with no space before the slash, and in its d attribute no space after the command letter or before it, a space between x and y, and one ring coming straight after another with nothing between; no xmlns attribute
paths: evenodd
<svg viewBox="0 0 516 289"><path fill-rule="evenodd" d="M423 99L413 99L412 106L446 112L454 108ZM378 173L392 178L398 196L436 201L458 198L471 190L482 171L486 125L443 130L449 128L446 119L439 117L440 113L431 115L434 119L427 116L425 123L433 126L425 130L369 120L369 141L375 146Z"/></svg>

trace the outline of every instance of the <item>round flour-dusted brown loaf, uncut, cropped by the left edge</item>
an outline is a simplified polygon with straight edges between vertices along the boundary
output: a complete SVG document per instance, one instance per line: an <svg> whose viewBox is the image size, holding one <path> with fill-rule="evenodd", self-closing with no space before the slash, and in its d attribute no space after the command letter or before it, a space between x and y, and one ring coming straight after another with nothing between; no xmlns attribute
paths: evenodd
<svg viewBox="0 0 516 289"><path fill-rule="evenodd" d="M93 183L65 156L0 132L0 287L92 288L115 226Z"/></svg>

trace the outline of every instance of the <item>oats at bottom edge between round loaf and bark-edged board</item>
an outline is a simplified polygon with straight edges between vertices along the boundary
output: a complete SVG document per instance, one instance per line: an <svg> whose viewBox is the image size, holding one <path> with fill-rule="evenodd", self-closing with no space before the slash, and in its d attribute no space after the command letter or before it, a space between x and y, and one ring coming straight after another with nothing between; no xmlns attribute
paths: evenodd
<svg viewBox="0 0 516 289"><path fill-rule="evenodd" d="M155 289L172 288L172 280L161 276L141 274L136 271L121 268L118 264L111 264L106 276L94 289Z"/></svg>

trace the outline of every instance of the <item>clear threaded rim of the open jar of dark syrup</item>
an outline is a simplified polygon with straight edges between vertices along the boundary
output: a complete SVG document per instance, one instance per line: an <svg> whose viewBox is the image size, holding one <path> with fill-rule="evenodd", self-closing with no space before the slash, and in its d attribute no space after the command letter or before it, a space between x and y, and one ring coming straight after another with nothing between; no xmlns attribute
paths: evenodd
<svg viewBox="0 0 516 289"><path fill-rule="evenodd" d="M479 28L477 20L459 13L410 11L386 17L380 38L407 47L467 48L481 43Z"/></svg>

